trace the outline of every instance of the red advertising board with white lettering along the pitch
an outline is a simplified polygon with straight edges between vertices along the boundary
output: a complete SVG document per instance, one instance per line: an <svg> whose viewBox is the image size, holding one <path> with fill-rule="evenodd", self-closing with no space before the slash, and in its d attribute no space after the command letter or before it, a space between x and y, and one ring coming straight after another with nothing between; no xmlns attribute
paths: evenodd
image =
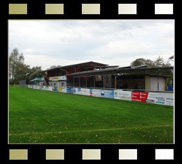
<svg viewBox="0 0 182 164"><path fill-rule="evenodd" d="M148 97L148 92L132 92L131 99L132 101L138 101L138 102L146 102L146 99Z"/></svg>

